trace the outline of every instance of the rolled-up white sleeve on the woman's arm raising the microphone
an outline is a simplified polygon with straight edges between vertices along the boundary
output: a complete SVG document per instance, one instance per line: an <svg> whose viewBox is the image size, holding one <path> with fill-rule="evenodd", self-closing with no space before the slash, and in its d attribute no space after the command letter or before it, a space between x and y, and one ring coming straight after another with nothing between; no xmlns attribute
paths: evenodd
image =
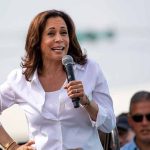
<svg viewBox="0 0 150 150"><path fill-rule="evenodd" d="M109 133L116 126L116 117L113 109L113 102L109 94L107 81L100 69L96 67L96 82L92 93L92 99L98 104L98 114L96 121L92 121L99 130Z"/></svg>

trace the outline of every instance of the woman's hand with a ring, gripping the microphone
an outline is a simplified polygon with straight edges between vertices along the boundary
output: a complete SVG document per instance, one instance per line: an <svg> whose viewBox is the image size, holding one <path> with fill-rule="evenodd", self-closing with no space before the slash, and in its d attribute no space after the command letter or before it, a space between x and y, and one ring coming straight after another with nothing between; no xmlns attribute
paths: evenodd
<svg viewBox="0 0 150 150"><path fill-rule="evenodd" d="M86 95L84 93L84 87L81 81L70 81L64 86L64 88L67 89L68 96L71 99L79 97L81 104L85 104L87 102Z"/></svg>

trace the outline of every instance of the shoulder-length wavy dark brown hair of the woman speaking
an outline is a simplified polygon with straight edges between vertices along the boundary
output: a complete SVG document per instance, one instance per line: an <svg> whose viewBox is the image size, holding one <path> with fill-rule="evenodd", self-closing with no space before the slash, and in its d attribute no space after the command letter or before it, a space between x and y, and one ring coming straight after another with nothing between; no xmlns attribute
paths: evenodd
<svg viewBox="0 0 150 150"><path fill-rule="evenodd" d="M43 60L40 49L41 37L46 26L47 20L51 17L61 17L64 19L69 33L69 50L68 55L71 55L75 63L84 65L87 62L86 54L83 54L82 49L77 40L75 25L71 17L63 11L48 10L39 13L31 22L26 37L25 50L26 54L22 58L21 67L27 81L33 75L35 70L42 70Z"/></svg>

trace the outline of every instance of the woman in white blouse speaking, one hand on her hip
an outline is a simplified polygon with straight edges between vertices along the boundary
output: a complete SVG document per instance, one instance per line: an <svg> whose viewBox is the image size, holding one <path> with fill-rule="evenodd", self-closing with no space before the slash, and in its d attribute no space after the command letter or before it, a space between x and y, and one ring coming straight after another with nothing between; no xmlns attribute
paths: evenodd
<svg viewBox="0 0 150 150"><path fill-rule="evenodd" d="M9 150L103 149L97 129L115 127L113 104L99 65L82 53L72 19L63 11L41 12L31 22L25 49L22 70L12 71L0 87L0 104L1 112L19 104L31 140L18 146L1 125L1 145ZM65 55L75 62L76 80L69 83ZM73 107L76 97L79 108Z"/></svg>

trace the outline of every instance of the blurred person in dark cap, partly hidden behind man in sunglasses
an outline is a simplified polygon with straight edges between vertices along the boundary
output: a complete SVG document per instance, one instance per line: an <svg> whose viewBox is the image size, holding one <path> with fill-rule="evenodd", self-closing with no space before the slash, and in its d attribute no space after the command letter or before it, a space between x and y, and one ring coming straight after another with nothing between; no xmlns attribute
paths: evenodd
<svg viewBox="0 0 150 150"><path fill-rule="evenodd" d="M128 113L121 113L117 116L117 130L119 134L120 147L128 143L134 136L129 123L128 123Z"/></svg>

